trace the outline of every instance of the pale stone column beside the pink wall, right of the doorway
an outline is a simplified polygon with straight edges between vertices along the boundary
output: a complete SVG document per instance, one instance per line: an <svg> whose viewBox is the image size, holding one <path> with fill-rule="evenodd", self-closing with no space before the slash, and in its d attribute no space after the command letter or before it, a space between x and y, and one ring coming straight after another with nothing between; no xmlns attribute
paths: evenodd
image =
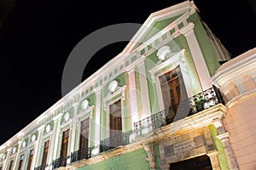
<svg viewBox="0 0 256 170"><path fill-rule="evenodd" d="M213 120L213 125L217 128L218 136L216 136L224 147L224 152L227 157L227 161L230 167L230 170L238 170L238 165L236 162L236 156L231 148L230 144L230 133L227 133L224 129L223 122L220 118Z"/></svg>

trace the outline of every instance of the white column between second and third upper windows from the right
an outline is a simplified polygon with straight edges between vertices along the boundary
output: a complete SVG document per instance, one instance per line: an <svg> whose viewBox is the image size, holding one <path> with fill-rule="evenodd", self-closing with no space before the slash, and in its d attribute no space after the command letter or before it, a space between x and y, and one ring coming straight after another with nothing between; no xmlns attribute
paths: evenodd
<svg viewBox="0 0 256 170"><path fill-rule="evenodd" d="M96 116L95 116L95 138L96 153L99 153L101 144L101 113L102 113L102 89L96 91Z"/></svg>

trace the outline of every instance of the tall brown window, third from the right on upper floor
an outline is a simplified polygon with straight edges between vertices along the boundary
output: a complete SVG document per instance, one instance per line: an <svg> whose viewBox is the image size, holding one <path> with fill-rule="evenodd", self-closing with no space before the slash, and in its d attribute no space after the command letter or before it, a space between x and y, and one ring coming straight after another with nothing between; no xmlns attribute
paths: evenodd
<svg viewBox="0 0 256 170"><path fill-rule="evenodd" d="M81 122L80 127L80 141L79 141L79 150L84 150L81 152L80 159L87 157L88 149L88 138L89 138L89 118ZM82 154L83 153L83 154Z"/></svg>

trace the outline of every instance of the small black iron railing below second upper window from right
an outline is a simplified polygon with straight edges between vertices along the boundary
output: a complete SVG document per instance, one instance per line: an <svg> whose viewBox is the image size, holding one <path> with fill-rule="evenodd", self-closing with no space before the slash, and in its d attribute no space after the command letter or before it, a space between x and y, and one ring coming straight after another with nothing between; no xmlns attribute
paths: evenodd
<svg viewBox="0 0 256 170"><path fill-rule="evenodd" d="M108 139L103 139L101 141L100 151L103 152L103 151L111 150L120 145L126 145L126 144L128 144L126 133L121 133L121 132L116 133L115 135L110 136Z"/></svg>

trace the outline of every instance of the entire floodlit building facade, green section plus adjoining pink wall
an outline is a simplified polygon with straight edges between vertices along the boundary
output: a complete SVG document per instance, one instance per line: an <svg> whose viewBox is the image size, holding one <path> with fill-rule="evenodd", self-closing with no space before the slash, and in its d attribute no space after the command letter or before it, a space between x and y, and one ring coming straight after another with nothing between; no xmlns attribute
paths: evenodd
<svg viewBox="0 0 256 170"><path fill-rule="evenodd" d="M255 55L230 60L193 2L157 11L1 146L0 169L255 169Z"/></svg>

